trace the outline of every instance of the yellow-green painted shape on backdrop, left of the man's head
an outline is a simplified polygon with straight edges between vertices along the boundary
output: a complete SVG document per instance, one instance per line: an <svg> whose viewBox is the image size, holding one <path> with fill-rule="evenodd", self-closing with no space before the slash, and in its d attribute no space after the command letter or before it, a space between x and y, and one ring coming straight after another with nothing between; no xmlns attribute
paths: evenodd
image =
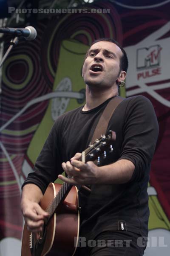
<svg viewBox="0 0 170 256"><path fill-rule="evenodd" d="M87 45L81 44L78 41L62 41L53 91L56 89L59 82L65 77L68 77L71 80L72 91L78 92L82 88L85 88L81 70L85 53L88 48L89 47ZM49 100L49 105L45 115L28 147L27 155L33 164L37 160L51 127L54 124L54 120L51 117L51 103L52 99ZM83 105L83 103L81 105ZM70 99L65 112L79 106L80 104L77 102L77 99Z"/></svg>

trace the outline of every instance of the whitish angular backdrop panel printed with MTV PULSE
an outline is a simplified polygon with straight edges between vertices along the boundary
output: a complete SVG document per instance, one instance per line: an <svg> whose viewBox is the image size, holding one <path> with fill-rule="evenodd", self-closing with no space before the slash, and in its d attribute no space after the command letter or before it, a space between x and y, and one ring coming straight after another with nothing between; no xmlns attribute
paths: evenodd
<svg viewBox="0 0 170 256"><path fill-rule="evenodd" d="M163 37L168 32L170 21L137 44L125 47L129 60L127 96L148 93L161 104L170 107L170 101L158 92L159 89L170 87L170 37ZM148 85L149 83L152 85Z"/></svg>

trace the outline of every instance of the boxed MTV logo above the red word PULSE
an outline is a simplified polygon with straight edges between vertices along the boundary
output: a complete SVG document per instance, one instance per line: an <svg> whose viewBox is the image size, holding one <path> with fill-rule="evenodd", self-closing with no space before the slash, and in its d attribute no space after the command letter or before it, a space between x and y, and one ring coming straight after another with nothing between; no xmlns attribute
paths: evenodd
<svg viewBox="0 0 170 256"><path fill-rule="evenodd" d="M161 49L160 45L137 49L137 69L159 66Z"/></svg>

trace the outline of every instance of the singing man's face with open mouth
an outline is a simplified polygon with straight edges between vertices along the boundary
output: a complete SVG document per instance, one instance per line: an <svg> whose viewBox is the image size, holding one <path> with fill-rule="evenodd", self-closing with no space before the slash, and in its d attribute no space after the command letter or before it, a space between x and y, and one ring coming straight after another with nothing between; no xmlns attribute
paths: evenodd
<svg viewBox="0 0 170 256"><path fill-rule="evenodd" d="M122 55L121 49L111 42L100 41L93 44L82 67L85 84L99 85L99 87L115 86L116 80L121 80L120 59Z"/></svg>

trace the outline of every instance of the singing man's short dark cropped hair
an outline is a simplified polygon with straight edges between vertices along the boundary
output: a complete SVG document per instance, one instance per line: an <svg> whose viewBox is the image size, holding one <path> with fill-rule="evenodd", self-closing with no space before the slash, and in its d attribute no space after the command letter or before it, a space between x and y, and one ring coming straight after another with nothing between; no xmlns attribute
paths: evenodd
<svg viewBox="0 0 170 256"><path fill-rule="evenodd" d="M120 59L120 71L123 70L123 71L127 72L127 68L128 68L128 59L127 59L127 54L126 54L125 50L123 49L122 45L119 44L116 40L114 40L114 39L112 39L112 38L99 38L99 39L95 40L95 41L91 44L91 46L92 46L93 44L96 44L96 43L100 42L100 41L111 42L111 43L113 43L113 44L116 44L116 45L121 49L123 55L122 55L122 58ZM88 54L88 52L87 52L87 54ZM86 55L86 57L87 57L87 55Z"/></svg>

